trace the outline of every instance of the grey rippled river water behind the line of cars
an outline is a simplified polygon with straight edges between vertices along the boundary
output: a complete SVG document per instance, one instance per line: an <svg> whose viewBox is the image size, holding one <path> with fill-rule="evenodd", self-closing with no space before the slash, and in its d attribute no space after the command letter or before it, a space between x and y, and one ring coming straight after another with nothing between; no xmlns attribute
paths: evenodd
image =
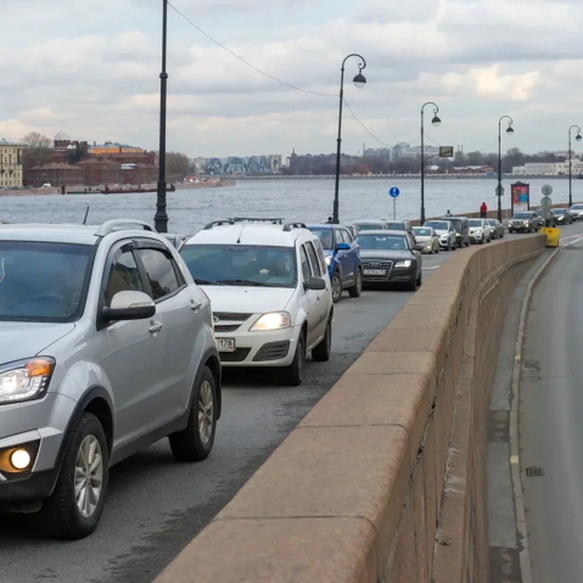
<svg viewBox="0 0 583 583"><path fill-rule="evenodd" d="M503 208L510 207L510 184L504 180ZM544 184L553 187L553 203L568 201L568 180L560 177L526 180L531 185L531 204L538 206ZM391 187L401 194L396 199L396 216L418 219L419 178L343 178L340 181L340 221L392 218ZM425 182L426 216L447 209L454 214L477 212L485 201L496 209L496 178L429 178ZM583 201L583 180L573 179L573 200ZM232 216L272 216L304 222L324 222L332 215L333 179L245 179L218 188L177 190L167 195L168 231L195 233L211 220ZM0 196L0 217L16 222L82 223L89 206L87 223L99 224L113 218L134 218L153 224L156 193Z"/></svg>

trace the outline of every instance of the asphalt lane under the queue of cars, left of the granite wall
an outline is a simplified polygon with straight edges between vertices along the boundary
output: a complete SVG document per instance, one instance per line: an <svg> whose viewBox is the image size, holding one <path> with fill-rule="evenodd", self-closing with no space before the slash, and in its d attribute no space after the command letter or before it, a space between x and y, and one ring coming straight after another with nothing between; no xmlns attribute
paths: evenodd
<svg viewBox="0 0 583 583"><path fill-rule="evenodd" d="M450 254L424 257L440 265ZM427 261L425 261L427 259ZM431 272L424 273L424 279ZM308 359L300 387L265 371L225 369L215 447L201 463L175 463L162 440L111 469L103 519L86 539L41 539L22 516L0 517L0 582L144 583L163 570L251 477L363 349L412 297L347 293L335 305L332 357Z"/></svg>

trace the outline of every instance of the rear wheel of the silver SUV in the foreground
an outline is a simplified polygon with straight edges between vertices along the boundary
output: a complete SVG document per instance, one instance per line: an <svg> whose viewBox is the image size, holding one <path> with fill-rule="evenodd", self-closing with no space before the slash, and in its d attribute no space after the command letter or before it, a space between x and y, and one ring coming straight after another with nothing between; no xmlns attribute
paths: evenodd
<svg viewBox="0 0 583 583"><path fill-rule="evenodd" d="M208 458L215 442L216 381L208 366L192 391L188 423L185 429L168 436L170 449L179 462L199 462Z"/></svg>

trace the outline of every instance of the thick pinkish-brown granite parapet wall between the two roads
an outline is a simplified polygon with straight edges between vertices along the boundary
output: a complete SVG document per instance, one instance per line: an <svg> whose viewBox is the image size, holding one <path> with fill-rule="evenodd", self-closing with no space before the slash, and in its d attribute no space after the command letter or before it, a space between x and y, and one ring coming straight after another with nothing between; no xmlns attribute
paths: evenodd
<svg viewBox="0 0 583 583"><path fill-rule="evenodd" d="M487 583L489 392L544 247L456 252L156 583Z"/></svg>

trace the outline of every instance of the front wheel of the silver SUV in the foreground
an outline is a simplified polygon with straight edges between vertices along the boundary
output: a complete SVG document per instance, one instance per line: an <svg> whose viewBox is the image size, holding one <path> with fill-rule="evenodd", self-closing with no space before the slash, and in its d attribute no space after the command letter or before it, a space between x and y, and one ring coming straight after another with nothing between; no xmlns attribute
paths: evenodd
<svg viewBox="0 0 583 583"><path fill-rule="evenodd" d="M76 477L79 473L80 479ZM106 434L96 416L83 413L66 444L55 489L38 513L41 530L57 539L79 540L90 535L103 514L108 482ZM79 496L77 486L81 486Z"/></svg>

